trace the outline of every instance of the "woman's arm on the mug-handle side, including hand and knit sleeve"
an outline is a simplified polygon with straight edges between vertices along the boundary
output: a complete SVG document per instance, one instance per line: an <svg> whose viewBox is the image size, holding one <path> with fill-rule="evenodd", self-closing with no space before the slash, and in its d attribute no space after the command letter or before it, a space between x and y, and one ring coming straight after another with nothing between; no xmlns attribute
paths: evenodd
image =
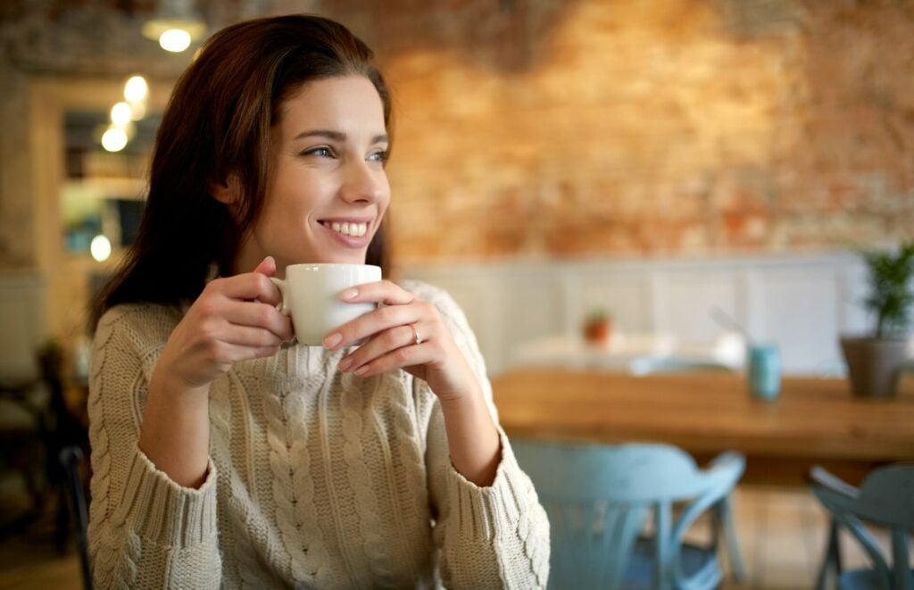
<svg viewBox="0 0 914 590"><path fill-rule="evenodd" d="M218 588L208 388L233 363L275 353L292 336L287 318L256 301L278 297L262 274L271 265L212 281L180 321L154 305L115 308L100 321L89 404L98 587Z"/></svg>

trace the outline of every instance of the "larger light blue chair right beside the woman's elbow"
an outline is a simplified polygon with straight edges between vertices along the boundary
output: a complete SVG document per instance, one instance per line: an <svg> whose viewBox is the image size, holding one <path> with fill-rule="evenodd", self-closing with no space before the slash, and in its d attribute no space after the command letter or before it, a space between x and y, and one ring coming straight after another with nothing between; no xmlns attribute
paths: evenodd
<svg viewBox="0 0 914 590"><path fill-rule="evenodd" d="M721 532L733 574L743 577L729 504L742 455L724 453L700 470L667 445L513 440L512 448L549 517L549 588L714 588L722 578ZM676 518L674 502L683 502ZM704 511L712 515L710 544L684 543ZM649 516L654 532L644 536Z"/></svg>

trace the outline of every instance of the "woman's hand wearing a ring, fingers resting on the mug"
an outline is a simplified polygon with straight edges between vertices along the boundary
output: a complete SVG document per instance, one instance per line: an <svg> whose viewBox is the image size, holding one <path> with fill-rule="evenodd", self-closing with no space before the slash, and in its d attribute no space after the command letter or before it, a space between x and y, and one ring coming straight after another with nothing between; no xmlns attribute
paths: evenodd
<svg viewBox="0 0 914 590"><path fill-rule="evenodd" d="M340 371L367 377L402 368L424 379L442 402L479 389L438 308L428 301L389 280L345 290L340 299L383 304L324 338L324 346L330 350L367 338L356 351L343 357Z"/></svg>

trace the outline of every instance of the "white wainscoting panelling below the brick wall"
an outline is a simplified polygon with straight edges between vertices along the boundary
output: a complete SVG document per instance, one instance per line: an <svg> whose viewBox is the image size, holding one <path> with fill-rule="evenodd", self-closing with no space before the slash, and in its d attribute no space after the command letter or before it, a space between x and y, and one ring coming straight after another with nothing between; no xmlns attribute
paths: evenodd
<svg viewBox="0 0 914 590"><path fill-rule="evenodd" d="M713 307L781 348L785 372L844 371L837 339L863 332L866 273L847 252L707 259L500 262L403 269L449 290L467 314L490 373L511 367L518 343L579 332L605 309L626 332L708 341Z"/></svg>

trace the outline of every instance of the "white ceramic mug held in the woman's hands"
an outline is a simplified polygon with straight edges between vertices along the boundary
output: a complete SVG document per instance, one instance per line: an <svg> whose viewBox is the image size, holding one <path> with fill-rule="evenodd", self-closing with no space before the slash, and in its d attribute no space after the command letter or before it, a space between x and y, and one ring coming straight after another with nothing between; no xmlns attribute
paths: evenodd
<svg viewBox="0 0 914 590"><path fill-rule="evenodd" d="M309 346L321 345L335 328L373 311L375 303L346 303L339 297L350 287L380 279L381 268L367 264L293 264L286 267L285 279L271 278L282 293L277 309L292 316L295 338Z"/></svg>

